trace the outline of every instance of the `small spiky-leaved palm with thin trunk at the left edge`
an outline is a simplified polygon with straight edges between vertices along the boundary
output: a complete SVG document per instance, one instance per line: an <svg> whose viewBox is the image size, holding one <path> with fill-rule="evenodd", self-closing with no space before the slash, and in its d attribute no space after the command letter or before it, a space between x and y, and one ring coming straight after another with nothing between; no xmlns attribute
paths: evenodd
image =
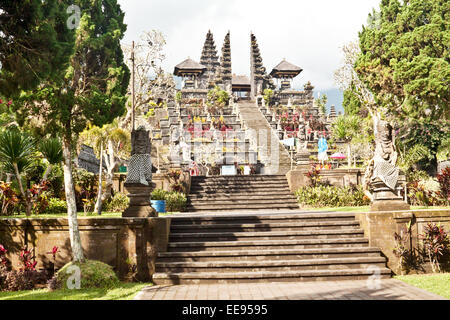
<svg viewBox="0 0 450 320"><path fill-rule="evenodd" d="M28 190L23 187L22 174L30 168L35 155L35 142L28 134L15 128L0 132L0 162L7 171L14 172L26 203L27 216L31 215L31 199Z"/></svg>

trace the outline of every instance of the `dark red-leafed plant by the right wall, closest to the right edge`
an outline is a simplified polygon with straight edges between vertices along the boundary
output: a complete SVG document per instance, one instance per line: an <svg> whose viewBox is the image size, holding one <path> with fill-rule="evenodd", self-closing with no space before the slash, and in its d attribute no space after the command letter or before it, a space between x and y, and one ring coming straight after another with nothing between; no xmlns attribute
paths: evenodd
<svg viewBox="0 0 450 320"><path fill-rule="evenodd" d="M424 250L430 260L431 269L433 272L441 271L441 261L448 257L450 250L447 232L440 224L428 223L420 238L423 240Z"/></svg>

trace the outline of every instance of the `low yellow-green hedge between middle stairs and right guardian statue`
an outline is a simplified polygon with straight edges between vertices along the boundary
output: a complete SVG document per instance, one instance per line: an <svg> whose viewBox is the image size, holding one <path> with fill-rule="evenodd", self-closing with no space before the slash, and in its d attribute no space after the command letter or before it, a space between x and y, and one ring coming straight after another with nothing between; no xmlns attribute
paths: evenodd
<svg viewBox="0 0 450 320"><path fill-rule="evenodd" d="M364 195L361 186L336 187L319 185L316 187L300 187L295 195L302 206L357 207L370 204L370 199Z"/></svg>

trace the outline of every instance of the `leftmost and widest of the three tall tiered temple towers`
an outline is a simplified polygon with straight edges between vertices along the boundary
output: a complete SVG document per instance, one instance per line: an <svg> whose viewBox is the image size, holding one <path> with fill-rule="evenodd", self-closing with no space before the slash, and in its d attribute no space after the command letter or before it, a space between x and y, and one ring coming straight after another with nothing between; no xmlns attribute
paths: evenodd
<svg viewBox="0 0 450 320"><path fill-rule="evenodd" d="M200 64L206 67L206 71L201 77L202 87L213 88L219 72L220 63L211 30L208 30L208 33L206 34Z"/></svg>

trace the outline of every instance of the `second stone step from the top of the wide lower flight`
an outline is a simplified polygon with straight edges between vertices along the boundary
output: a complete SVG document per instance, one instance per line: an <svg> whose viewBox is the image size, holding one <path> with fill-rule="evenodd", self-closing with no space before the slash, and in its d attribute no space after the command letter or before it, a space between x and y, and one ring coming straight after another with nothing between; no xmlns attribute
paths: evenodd
<svg viewBox="0 0 450 320"><path fill-rule="evenodd" d="M239 232L239 231L279 231L279 230L329 230L359 227L358 221L317 221L317 222L281 222L281 223L216 223L216 224L175 224L171 234L186 231L198 232Z"/></svg>

